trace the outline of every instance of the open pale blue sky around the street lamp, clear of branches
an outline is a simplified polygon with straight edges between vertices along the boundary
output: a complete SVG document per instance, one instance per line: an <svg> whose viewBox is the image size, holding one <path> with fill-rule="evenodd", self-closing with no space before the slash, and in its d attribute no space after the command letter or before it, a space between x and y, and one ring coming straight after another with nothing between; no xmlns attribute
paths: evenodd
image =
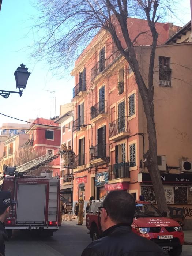
<svg viewBox="0 0 192 256"><path fill-rule="evenodd" d="M35 0L33 0L35 2ZM170 14L168 22L183 26L190 19L190 0L180 1L176 15ZM37 14L30 0L3 0L0 12L0 90L16 90L14 71L20 64L25 64L31 75L23 96L11 94L8 99L0 96L0 113L23 120L40 117L50 118L50 93L52 90L52 117L59 114L59 105L71 102L74 78L68 73L59 79L49 71L49 64L30 57L33 35L28 33L33 25L32 15ZM18 121L0 115L0 125Z"/></svg>

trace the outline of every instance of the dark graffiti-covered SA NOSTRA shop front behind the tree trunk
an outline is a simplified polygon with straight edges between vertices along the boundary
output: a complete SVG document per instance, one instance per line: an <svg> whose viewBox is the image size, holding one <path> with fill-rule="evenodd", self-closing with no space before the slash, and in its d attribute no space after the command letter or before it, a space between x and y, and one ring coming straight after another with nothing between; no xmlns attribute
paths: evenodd
<svg viewBox="0 0 192 256"><path fill-rule="evenodd" d="M192 227L192 174L161 174L168 206L184 209L185 228ZM139 173L140 195L156 204L155 192L148 173Z"/></svg>

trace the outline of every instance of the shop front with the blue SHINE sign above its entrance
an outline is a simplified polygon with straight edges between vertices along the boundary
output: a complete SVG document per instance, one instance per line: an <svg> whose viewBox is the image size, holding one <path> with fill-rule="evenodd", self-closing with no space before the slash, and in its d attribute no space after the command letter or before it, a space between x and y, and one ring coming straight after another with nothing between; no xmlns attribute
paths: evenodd
<svg viewBox="0 0 192 256"><path fill-rule="evenodd" d="M107 195L105 184L108 183L108 172L97 173L95 175L95 199L104 199Z"/></svg>

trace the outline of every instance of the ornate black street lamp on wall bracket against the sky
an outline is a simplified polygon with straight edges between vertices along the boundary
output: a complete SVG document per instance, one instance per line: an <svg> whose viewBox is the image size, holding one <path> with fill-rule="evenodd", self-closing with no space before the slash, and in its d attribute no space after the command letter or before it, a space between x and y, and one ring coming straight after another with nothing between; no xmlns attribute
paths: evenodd
<svg viewBox="0 0 192 256"><path fill-rule="evenodd" d="M0 90L0 95L7 99L11 93L19 93L20 96L23 94L23 90L26 88L27 80L30 76L30 72L28 72L28 68L25 68L25 65L20 64L20 67L15 70L14 76L16 81L16 88L19 89L19 91L4 91Z"/></svg>

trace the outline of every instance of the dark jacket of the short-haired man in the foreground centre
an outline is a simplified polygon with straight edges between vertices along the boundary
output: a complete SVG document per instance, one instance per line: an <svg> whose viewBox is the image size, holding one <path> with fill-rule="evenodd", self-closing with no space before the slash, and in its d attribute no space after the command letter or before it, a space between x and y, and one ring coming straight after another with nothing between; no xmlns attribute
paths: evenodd
<svg viewBox="0 0 192 256"><path fill-rule="evenodd" d="M131 227L118 224L105 230L81 256L165 256L167 253L150 240L133 233Z"/></svg>

